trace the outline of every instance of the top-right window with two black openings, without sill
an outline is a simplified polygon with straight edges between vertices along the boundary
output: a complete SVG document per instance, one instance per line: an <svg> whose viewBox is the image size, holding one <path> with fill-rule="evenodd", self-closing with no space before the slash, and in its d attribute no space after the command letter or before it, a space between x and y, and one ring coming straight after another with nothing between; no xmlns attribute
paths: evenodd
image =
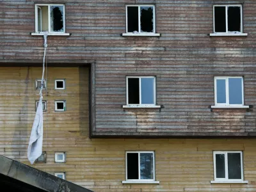
<svg viewBox="0 0 256 192"><path fill-rule="evenodd" d="M241 5L214 5L214 33L242 33Z"/></svg>

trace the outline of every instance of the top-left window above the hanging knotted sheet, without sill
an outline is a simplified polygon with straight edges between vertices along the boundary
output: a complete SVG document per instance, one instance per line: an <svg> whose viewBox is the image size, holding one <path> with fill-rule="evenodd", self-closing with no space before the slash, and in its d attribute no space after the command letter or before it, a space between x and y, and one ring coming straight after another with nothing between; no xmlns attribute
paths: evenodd
<svg viewBox="0 0 256 192"><path fill-rule="evenodd" d="M36 4L36 32L65 32L63 4Z"/></svg>

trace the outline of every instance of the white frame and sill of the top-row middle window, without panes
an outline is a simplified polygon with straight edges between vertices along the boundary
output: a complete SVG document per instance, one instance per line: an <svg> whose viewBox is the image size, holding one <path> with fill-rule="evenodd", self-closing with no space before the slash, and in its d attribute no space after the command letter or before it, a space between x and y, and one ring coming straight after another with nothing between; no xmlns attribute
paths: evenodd
<svg viewBox="0 0 256 192"><path fill-rule="evenodd" d="M138 33L132 33L128 32L128 6L136 6L138 7L138 27L139 31ZM153 7L153 32L141 32L141 26L140 26L140 7L141 6L152 6ZM125 5L125 22L126 22L126 33L123 33L123 36L160 36L159 33L156 33L156 6L154 4L126 4Z"/></svg>

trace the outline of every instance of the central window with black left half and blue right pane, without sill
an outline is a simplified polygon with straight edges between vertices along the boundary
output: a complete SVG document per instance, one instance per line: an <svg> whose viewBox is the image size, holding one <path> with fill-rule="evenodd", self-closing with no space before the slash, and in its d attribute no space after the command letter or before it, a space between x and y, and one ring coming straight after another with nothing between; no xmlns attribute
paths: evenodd
<svg viewBox="0 0 256 192"><path fill-rule="evenodd" d="M127 77L127 104L154 105L155 77Z"/></svg>

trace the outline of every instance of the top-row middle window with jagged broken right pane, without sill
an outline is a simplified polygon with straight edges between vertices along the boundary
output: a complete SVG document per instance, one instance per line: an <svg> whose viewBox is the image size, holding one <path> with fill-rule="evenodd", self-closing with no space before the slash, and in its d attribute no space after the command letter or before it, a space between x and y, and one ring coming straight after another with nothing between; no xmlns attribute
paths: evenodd
<svg viewBox="0 0 256 192"><path fill-rule="evenodd" d="M127 5L127 33L156 33L154 5Z"/></svg>

